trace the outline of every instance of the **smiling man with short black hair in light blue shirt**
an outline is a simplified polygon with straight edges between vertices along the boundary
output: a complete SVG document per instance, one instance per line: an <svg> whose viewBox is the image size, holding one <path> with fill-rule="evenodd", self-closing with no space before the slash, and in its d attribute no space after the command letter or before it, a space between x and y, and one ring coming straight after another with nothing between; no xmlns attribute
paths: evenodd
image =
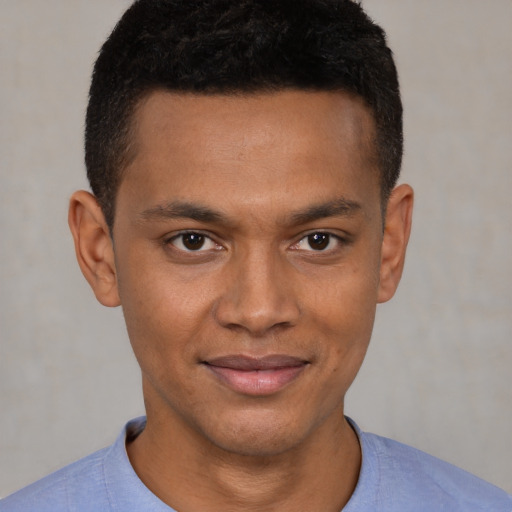
<svg viewBox="0 0 512 512"><path fill-rule="evenodd" d="M93 195L69 221L147 419L0 510L510 510L343 414L404 263L401 114L351 1L133 4L95 66Z"/></svg>

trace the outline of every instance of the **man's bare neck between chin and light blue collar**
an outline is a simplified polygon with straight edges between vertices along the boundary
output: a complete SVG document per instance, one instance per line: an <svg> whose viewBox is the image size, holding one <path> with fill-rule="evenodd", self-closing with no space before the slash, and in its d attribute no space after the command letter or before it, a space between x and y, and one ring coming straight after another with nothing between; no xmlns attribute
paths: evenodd
<svg viewBox="0 0 512 512"><path fill-rule="evenodd" d="M340 409L293 449L268 456L228 452L148 411L145 430L127 451L144 484L180 512L339 512L361 465L357 436Z"/></svg>

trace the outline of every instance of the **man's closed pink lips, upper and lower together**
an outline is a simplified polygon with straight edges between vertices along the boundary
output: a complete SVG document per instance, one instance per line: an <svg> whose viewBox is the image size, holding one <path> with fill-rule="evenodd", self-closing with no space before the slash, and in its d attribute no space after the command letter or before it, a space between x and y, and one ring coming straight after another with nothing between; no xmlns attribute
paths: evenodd
<svg viewBox="0 0 512 512"><path fill-rule="evenodd" d="M309 365L298 357L229 355L203 362L219 380L237 393L267 396L294 381Z"/></svg>

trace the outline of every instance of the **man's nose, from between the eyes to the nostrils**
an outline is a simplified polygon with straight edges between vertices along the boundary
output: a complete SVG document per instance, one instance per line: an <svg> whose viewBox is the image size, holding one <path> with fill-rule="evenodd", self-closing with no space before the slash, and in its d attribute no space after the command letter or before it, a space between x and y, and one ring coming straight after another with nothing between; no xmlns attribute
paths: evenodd
<svg viewBox="0 0 512 512"><path fill-rule="evenodd" d="M282 257L271 251L252 251L226 269L224 293L216 304L223 327L264 336L292 327L300 317L293 279Z"/></svg>

